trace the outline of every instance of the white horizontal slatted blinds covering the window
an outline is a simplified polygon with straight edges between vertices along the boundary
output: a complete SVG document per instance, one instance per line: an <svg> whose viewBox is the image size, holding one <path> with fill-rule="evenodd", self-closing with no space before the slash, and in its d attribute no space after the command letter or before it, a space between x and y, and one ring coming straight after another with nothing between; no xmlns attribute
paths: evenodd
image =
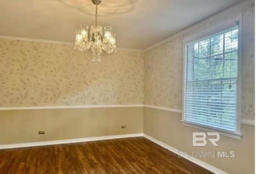
<svg viewBox="0 0 256 174"><path fill-rule="evenodd" d="M187 45L184 120L236 131L238 27Z"/></svg>

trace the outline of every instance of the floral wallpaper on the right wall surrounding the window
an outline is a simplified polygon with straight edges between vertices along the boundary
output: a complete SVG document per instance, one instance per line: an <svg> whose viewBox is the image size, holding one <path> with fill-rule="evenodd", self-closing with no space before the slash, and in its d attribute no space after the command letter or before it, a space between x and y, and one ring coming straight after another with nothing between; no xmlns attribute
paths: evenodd
<svg viewBox="0 0 256 174"><path fill-rule="evenodd" d="M242 118L254 120L254 1L232 13L214 16L145 53L144 104L182 109L183 40L242 13Z"/></svg>

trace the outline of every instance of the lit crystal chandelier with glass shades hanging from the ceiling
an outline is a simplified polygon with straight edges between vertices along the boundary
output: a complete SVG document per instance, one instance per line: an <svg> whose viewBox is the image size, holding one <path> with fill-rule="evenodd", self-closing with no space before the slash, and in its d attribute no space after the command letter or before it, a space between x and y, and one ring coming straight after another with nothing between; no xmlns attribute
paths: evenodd
<svg viewBox="0 0 256 174"><path fill-rule="evenodd" d="M86 25L81 25L80 28L76 30L76 42L75 49L79 51L92 50L92 61L98 63L101 61L102 50L107 53L116 52L116 34L112 33L112 27L103 27L98 25L98 5L101 0L92 0L92 3L96 5L95 12L95 25L90 26L90 32L88 32L89 27Z"/></svg>

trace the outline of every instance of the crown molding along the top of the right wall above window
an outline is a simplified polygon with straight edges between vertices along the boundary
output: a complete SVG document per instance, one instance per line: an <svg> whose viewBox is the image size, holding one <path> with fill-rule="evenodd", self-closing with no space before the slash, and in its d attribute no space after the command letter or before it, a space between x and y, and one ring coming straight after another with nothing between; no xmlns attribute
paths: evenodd
<svg viewBox="0 0 256 174"><path fill-rule="evenodd" d="M245 1L241 2L241 3L239 3L239 4L236 4L236 5L234 5L234 6L230 7L230 8L222 11L222 12L219 12L218 14L215 14L215 15L209 17L209 18L206 18L206 19L202 20L201 22L198 22L196 24L193 24L192 26L189 26L188 28L185 28L184 30L182 30L182 31L180 31L180 32L170 36L169 38L166 38L165 40L162 40L162 41L160 41L158 43L155 43L154 45L151 45L150 47L144 49L144 52L149 51L149 50L151 50L151 49L153 49L155 47L158 47L159 45L162 45L162 44L164 44L164 43L166 43L166 42L168 42L170 40L173 40L173 39L181 36L182 34L184 34L186 32L189 32L191 30L195 30L199 26L203 26L204 23L210 22L211 20L213 20L216 17L225 16L227 14L232 14L233 12L236 12L236 11L239 11L239 10L241 11L241 9L243 7L249 5L250 3L253 3L253 2L254 2L254 0L245 0Z"/></svg>

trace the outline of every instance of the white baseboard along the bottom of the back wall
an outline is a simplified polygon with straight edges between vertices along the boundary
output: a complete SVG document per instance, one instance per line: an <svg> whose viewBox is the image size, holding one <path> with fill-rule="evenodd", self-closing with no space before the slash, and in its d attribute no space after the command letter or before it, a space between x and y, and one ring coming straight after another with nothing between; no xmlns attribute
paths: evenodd
<svg viewBox="0 0 256 174"><path fill-rule="evenodd" d="M110 136L95 136L88 138L75 138L75 139L67 139L67 140L53 140L53 141L41 141L41 142L26 142L26 143L18 143L18 144L3 144L0 145L0 149L7 148L20 148L20 147L32 147L32 146L46 146L53 144L67 144L67 143L75 143L75 142L87 142L87 141L97 141L97 140L109 140L116 138L129 138L129 137L138 137L143 136L143 133L138 134L122 134L122 135L110 135Z"/></svg>

